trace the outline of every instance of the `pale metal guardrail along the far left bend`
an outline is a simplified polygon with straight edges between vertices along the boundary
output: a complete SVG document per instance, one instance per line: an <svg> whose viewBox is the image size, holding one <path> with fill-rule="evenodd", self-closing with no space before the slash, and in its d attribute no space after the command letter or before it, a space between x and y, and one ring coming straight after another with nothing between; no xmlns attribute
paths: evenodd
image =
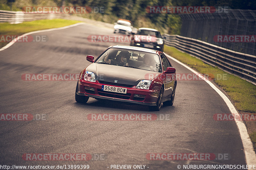
<svg viewBox="0 0 256 170"><path fill-rule="evenodd" d="M35 21L40 19L67 19L77 20L96 26L104 26L114 28L114 24L95 21L88 18L78 17L67 13L23 13L22 11L4 11L0 10L0 22L9 22L11 24L18 24L24 21Z"/></svg>

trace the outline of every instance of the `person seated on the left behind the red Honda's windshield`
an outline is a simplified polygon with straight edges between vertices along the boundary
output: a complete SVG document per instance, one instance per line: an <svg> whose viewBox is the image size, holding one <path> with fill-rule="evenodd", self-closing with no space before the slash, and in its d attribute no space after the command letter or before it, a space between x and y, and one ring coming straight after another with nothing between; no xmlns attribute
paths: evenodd
<svg viewBox="0 0 256 170"><path fill-rule="evenodd" d="M131 56L131 54L128 51L123 50L119 53L119 55L117 55L116 60L114 60L114 59L109 60L108 56L106 56L104 61L107 63L113 64L113 65L129 66L128 61L129 61L130 56ZM125 62L124 59L126 59L126 63L124 63Z"/></svg>

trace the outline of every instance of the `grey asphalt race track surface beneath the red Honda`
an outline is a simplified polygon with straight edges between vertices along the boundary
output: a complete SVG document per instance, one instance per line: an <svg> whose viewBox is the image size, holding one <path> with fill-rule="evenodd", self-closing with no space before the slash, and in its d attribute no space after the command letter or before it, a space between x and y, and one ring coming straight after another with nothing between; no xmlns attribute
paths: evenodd
<svg viewBox="0 0 256 170"><path fill-rule="evenodd" d="M87 36L113 35L88 24L37 33L47 42L16 42L0 51L0 113L46 115L45 120L0 121L1 165L146 165L145 169L178 169L177 165L244 165L243 145L234 121L215 121L229 114L221 97L204 81L178 81L173 106L159 112L147 106L90 98L76 103L76 81L24 81L22 74L80 73L113 42L89 42ZM129 45L128 42L118 43ZM177 73L191 73L170 60ZM132 75L131 75L132 76ZM156 121L90 121L88 114L168 115ZM104 160L28 161L24 153L90 153ZM148 160L147 153L227 154L225 160ZM218 157L218 156L217 156ZM221 156L220 156L221 157ZM109 167L109 168L108 168ZM183 167L181 168L183 169Z"/></svg>

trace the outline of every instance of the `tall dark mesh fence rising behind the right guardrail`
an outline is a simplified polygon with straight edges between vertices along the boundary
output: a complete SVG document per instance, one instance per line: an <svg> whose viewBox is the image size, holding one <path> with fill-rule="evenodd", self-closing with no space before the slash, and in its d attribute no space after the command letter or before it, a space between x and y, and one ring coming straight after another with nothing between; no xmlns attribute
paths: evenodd
<svg viewBox="0 0 256 170"><path fill-rule="evenodd" d="M256 35L256 10L221 9L214 13L184 13L180 35L205 41L233 51L256 55L255 41L218 41L218 35Z"/></svg>

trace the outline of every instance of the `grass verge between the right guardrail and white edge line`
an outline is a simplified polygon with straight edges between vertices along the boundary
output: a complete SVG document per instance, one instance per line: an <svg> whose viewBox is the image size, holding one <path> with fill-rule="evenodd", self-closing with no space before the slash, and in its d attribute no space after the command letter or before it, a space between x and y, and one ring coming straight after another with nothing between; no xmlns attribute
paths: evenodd
<svg viewBox="0 0 256 170"><path fill-rule="evenodd" d="M237 76L228 74L217 67L202 62L196 57L178 51L176 48L165 46L164 52L187 64L189 67L203 74L209 74L214 79L231 100L239 111L256 113L256 86ZM226 78L220 78L220 75L226 75Z"/></svg>

